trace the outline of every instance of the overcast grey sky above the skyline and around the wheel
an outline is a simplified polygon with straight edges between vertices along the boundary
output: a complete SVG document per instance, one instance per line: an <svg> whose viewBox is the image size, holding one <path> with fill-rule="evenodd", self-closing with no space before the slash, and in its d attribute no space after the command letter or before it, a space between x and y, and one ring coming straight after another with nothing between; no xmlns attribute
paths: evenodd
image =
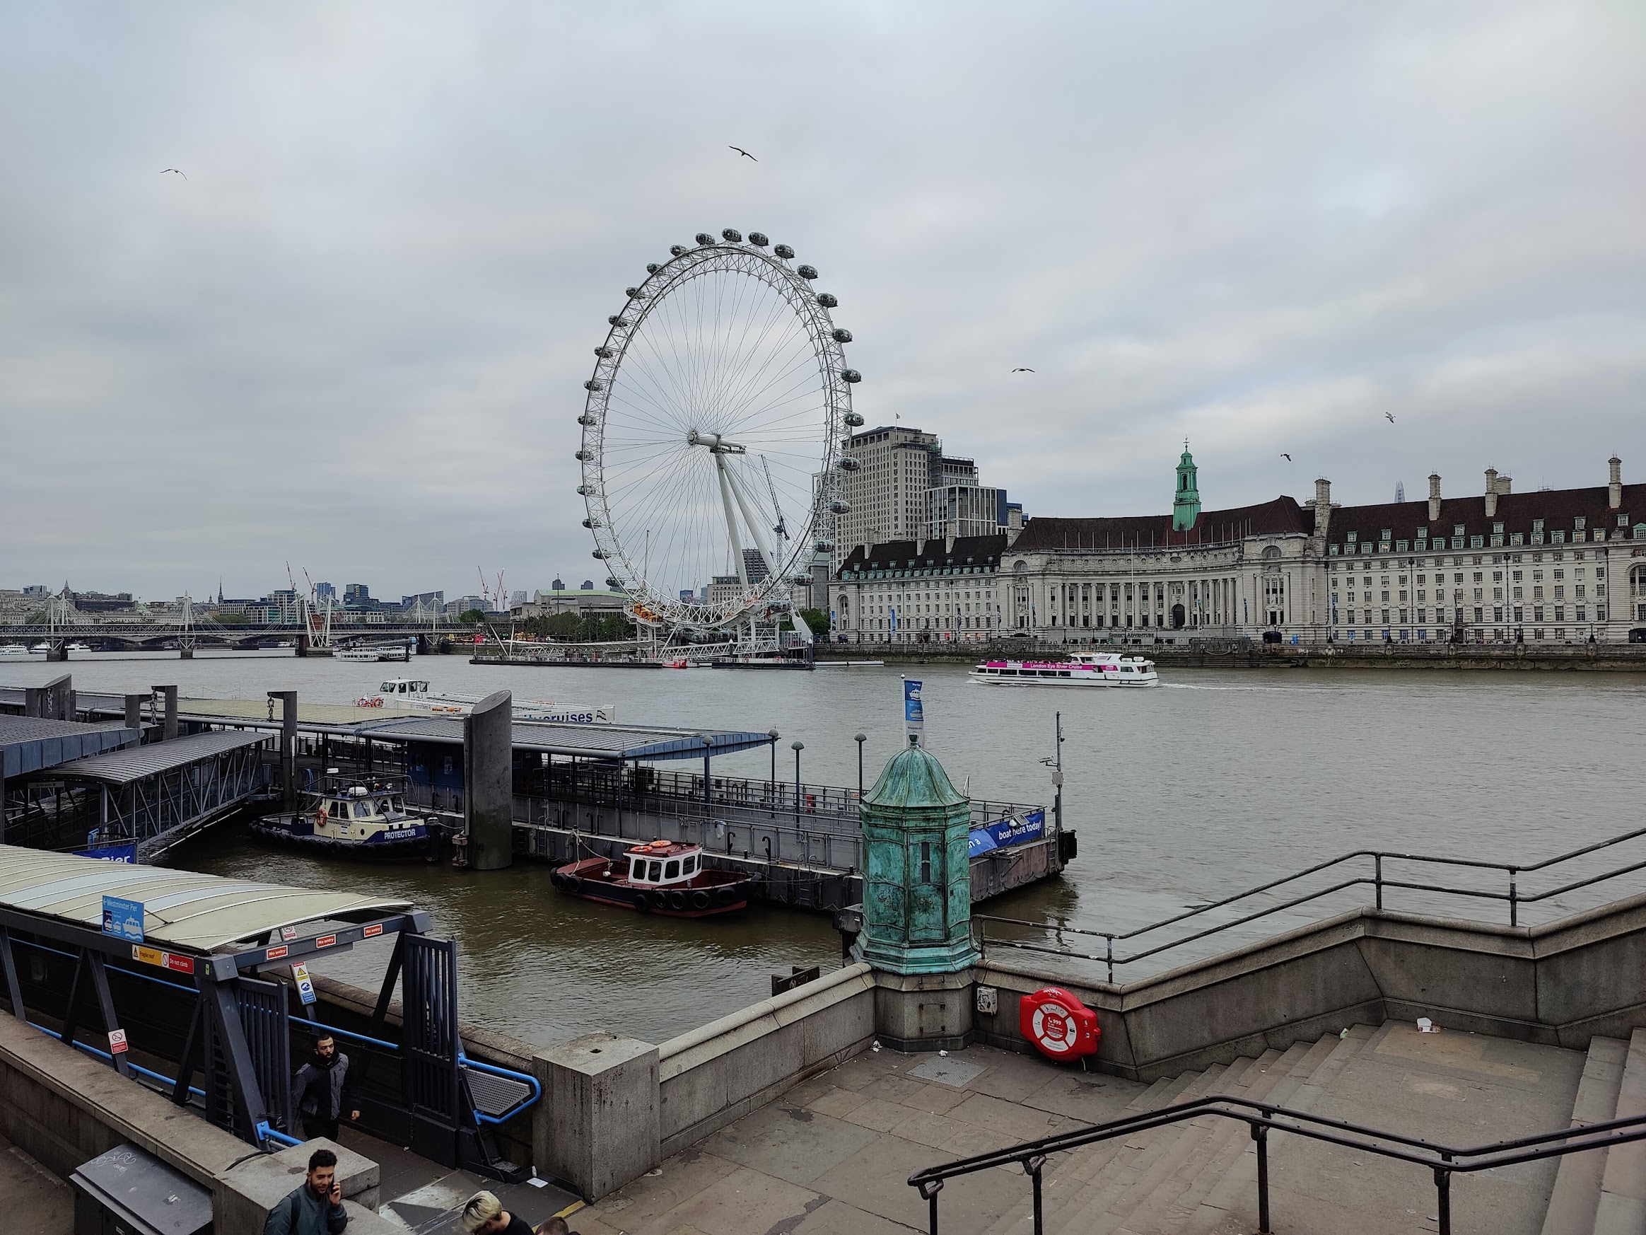
<svg viewBox="0 0 1646 1235"><path fill-rule="evenodd" d="M1630 0L12 3L0 150L0 586L581 583L591 349L721 227L1030 515L1646 479Z"/></svg>

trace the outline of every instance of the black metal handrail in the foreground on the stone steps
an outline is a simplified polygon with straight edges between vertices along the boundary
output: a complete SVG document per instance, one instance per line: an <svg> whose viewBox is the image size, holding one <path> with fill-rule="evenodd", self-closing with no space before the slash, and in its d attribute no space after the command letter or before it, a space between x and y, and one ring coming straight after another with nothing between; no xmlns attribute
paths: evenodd
<svg viewBox="0 0 1646 1235"><path fill-rule="evenodd" d="M1514 1141L1495 1141L1470 1148L1435 1144L1416 1136L1379 1131L1345 1120L1328 1120L1320 1115L1271 1107L1266 1102L1236 1098L1226 1093L1211 1093L1195 1102L1167 1107L1144 1115L1132 1115L1124 1120L1091 1125L1080 1131L1045 1136L1039 1141L1027 1141L1009 1149L997 1149L976 1158L961 1158L943 1166L930 1166L909 1176L909 1186L920 1192L927 1202L928 1232L938 1235L937 1199L943 1191L943 1181L958 1176L976 1174L996 1166L1017 1164L1034 1186L1034 1235L1044 1235L1044 1200L1042 1174L1047 1159L1055 1153L1078 1149L1085 1144L1109 1141L1116 1136L1131 1136L1149 1128L1162 1128L1202 1115L1218 1115L1228 1120L1239 1120L1251 1130L1251 1139L1258 1143L1258 1230L1269 1230L1269 1133L1287 1131L1305 1136L1312 1141L1325 1141L1350 1149L1365 1149L1379 1158L1393 1158L1399 1163L1427 1167L1434 1172L1435 1192L1440 1209L1437 1222L1440 1235L1452 1232L1452 1176L1493 1171L1500 1166L1518 1166L1536 1163L1544 1158L1583 1153L1588 1149L1606 1149L1613 1144L1646 1139L1646 1115L1634 1115L1626 1120L1610 1120L1606 1123L1590 1123L1580 1128L1562 1128L1536 1136L1523 1136Z"/></svg>

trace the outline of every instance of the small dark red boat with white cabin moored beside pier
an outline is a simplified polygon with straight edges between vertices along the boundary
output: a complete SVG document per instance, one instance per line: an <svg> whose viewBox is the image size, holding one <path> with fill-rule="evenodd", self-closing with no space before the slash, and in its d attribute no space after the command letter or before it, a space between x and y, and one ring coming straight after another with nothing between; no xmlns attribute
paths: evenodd
<svg viewBox="0 0 1646 1235"><path fill-rule="evenodd" d="M622 858L584 858L548 876L566 896L665 917L709 917L749 904L754 879L703 866L703 846L675 840L637 845Z"/></svg>

